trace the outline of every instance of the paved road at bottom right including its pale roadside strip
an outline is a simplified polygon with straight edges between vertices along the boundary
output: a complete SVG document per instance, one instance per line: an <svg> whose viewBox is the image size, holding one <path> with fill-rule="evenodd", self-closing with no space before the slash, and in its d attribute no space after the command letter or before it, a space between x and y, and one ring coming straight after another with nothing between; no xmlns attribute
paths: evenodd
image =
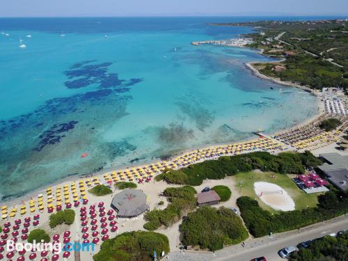
<svg viewBox="0 0 348 261"><path fill-rule="evenodd" d="M240 245L224 248L216 253L170 253L168 260L185 260L185 261L205 261L205 260L219 260L219 261L247 261L252 258L264 256L268 261L283 260L279 257L278 251L286 246L296 245L300 242L323 237L339 230L348 229L348 216L342 216L338 219L317 223L313 226L301 228L300 230L293 230L276 234L273 237L262 237L258 239L250 239L246 241L246 246Z"/></svg>

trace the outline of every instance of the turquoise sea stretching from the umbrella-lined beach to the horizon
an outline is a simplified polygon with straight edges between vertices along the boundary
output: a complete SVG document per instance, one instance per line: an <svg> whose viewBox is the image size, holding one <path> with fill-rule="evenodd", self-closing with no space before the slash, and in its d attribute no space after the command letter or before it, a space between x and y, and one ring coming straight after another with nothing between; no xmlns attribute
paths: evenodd
<svg viewBox="0 0 348 261"><path fill-rule="evenodd" d="M271 59L191 45L252 31L209 22L255 19L0 18L1 200L313 116L315 97L258 79L244 64Z"/></svg>

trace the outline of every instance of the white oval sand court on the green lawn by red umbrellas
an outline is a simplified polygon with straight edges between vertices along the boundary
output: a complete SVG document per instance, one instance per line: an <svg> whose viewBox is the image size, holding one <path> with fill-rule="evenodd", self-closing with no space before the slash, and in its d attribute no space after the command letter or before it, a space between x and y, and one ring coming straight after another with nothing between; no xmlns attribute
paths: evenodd
<svg viewBox="0 0 348 261"><path fill-rule="evenodd" d="M254 190L262 202L269 205L269 207L273 209L282 211L290 211L295 209L294 200L292 200L289 194L287 194L287 192L277 184L269 182L255 182Z"/></svg>

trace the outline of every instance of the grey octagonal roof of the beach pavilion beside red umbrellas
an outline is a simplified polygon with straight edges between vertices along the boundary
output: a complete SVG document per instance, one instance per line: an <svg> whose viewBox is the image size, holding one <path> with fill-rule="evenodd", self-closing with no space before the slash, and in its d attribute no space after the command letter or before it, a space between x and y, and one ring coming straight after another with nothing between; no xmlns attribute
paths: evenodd
<svg viewBox="0 0 348 261"><path fill-rule="evenodd" d="M139 189L124 189L116 194L111 201L111 207L116 210L120 218L130 219L149 210L146 195Z"/></svg>

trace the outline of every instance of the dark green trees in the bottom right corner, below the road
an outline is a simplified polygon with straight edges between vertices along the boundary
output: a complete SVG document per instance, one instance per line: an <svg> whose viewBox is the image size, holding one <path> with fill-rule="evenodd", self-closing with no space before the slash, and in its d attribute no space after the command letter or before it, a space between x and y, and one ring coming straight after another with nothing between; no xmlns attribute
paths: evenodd
<svg viewBox="0 0 348 261"><path fill-rule="evenodd" d="M337 237L316 239L308 248L302 248L290 257L290 261L348 260L348 232Z"/></svg>

